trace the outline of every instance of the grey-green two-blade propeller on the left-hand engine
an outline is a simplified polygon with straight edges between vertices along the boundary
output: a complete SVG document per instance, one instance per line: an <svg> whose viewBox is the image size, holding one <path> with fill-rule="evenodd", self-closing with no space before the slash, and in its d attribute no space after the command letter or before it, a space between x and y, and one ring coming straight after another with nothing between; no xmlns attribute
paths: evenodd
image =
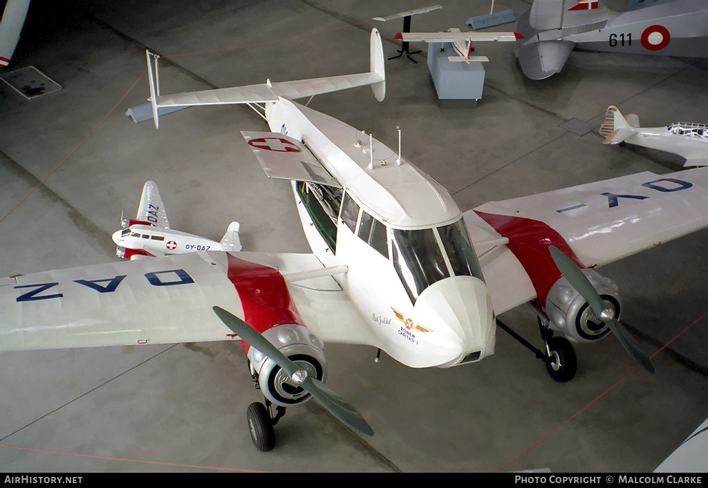
<svg viewBox="0 0 708 488"><path fill-rule="evenodd" d="M253 348L256 348L275 361L278 366L282 367L282 369L287 372L287 375L290 376L294 384L304 388L312 395L312 398L318 401L321 406L324 406L325 409L329 410L333 416L336 416L336 418L355 431L366 434L367 436L374 435L373 429L353 406L348 404L345 399L331 389L324 386L324 383L319 381L319 379L309 377L307 371L298 367L295 362L292 362L287 356L281 353L278 348L275 348L268 339L254 331L249 324L219 306L213 306L212 309L222 322L239 336L239 338L245 340L246 343L249 343Z"/></svg>

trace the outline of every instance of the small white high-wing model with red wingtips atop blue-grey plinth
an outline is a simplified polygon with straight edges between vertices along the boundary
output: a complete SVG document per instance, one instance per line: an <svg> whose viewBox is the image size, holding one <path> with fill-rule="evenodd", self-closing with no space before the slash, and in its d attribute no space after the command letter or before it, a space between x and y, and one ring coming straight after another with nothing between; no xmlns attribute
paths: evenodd
<svg viewBox="0 0 708 488"><path fill-rule="evenodd" d="M456 27L450 28L447 32L399 32L396 39L405 43L412 41L423 41L426 43L451 43L457 55L450 56L450 61L486 62L489 57L472 56L472 41L476 42L514 42L522 35L515 32L462 32Z"/></svg>

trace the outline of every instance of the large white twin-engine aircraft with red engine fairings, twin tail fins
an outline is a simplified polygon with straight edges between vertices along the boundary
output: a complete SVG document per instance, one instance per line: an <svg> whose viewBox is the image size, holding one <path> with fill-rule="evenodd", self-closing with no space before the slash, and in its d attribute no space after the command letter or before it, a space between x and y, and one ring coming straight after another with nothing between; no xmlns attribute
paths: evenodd
<svg viewBox="0 0 708 488"><path fill-rule="evenodd" d="M371 345L411 367L452 367L493 354L499 326L563 382L576 372L571 342L612 331L653 371L617 320L617 286L595 267L707 226L708 168L462 212L371 135L290 100L367 84L383 99L375 29L370 72L360 74L159 95L150 53L148 63L155 116L161 106L246 103L268 121L273 132L244 137L268 176L292 182L312 254L208 250L9 277L0 282L0 348L241 340L265 397L247 412L261 450L273 447L285 407L311 396L373 434L323 384L328 342ZM540 349L496 320L522 304L539 317Z"/></svg>

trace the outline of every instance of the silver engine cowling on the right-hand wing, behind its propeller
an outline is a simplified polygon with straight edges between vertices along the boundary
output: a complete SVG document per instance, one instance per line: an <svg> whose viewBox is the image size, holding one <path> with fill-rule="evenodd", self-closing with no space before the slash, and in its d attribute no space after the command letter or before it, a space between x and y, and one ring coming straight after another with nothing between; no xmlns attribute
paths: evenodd
<svg viewBox="0 0 708 488"><path fill-rule="evenodd" d="M612 279L603 277L595 270L582 270L590 284L598 291L619 318L622 311L622 301L619 299L619 289ZM610 333L610 328L595 316L588 302L571 286L565 277L561 277L548 292L546 298L546 315L548 321L544 325L566 336L573 342L593 342Z"/></svg>

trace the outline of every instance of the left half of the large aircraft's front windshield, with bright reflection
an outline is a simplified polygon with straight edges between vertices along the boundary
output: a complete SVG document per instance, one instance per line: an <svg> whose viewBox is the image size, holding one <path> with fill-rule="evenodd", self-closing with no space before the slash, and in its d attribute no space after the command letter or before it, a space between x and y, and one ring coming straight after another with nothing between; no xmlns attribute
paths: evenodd
<svg viewBox="0 0 708 488"><path fill-rule="evenodd" d="M432 228L421 231L392 229L391 252L396 272L413 304L424 289L450 277Z"/></svg>

